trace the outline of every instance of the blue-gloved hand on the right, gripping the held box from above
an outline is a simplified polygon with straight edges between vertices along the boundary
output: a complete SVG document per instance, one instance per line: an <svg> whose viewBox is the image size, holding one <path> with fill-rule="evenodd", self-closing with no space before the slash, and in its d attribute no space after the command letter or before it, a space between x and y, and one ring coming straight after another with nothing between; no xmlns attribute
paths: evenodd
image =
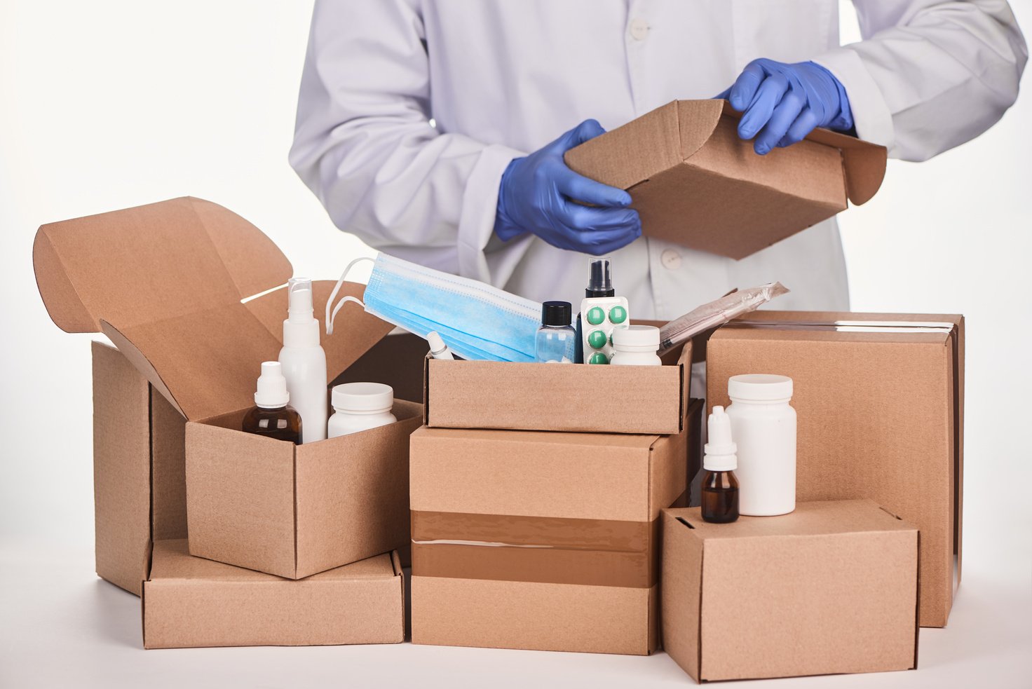
<svg viewBox="0 0 1032 689"><path fill-rule="evenodd" d="M845 88L813 62L789 65L766 58L753 60L717 98L727 98L732 107L745 112L738 135L743 139L755 136L752 147L761 156L774 146L802 141L815 127L852 129Z"/></svg>

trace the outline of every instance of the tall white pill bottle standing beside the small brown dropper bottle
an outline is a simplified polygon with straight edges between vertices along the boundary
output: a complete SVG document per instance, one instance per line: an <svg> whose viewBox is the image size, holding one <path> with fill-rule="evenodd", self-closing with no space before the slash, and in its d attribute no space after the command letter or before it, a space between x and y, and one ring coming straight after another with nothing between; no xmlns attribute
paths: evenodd
<svg viewBox="0 0 1032 689"><path fill-rule="evenodd" d="M796 508L796 409L792 379L748 373L728 380L731 432L738 445L738 512L751 517Z"/></svg>

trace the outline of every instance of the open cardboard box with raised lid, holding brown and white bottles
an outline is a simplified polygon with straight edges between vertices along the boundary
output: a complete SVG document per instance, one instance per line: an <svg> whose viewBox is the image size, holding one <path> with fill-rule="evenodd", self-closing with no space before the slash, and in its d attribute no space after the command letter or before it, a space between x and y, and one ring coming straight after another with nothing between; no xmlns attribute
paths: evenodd
<svg viewBox="0 0 1032 689"><path fill-rule="evenodd" d="M208 201L172 199L44 225L33 263L55 323L106 334L189 420L195 555L301 578L408 549L406 453L419 405L398 402L391 426L301 446L296 464L292 446L226 428L253 405L260 362L279 355L286 296L276 288L292 272L256 227ZM331 288L315 284L318 317ZM346 283L342 292L362 290ZM331 379L391 330L358 308L348 325L323 338Z"/></svg>

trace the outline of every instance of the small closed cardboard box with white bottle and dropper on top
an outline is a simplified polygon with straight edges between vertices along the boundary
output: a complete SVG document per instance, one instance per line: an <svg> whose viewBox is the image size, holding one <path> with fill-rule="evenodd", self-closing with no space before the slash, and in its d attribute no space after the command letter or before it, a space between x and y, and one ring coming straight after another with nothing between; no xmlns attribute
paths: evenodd
<svg viewBox="0 0 1032 689"><path fill-rule="evenodd" d="M917 529L874 502L663 529L663 645L696 682L917 666Z"/></svg>

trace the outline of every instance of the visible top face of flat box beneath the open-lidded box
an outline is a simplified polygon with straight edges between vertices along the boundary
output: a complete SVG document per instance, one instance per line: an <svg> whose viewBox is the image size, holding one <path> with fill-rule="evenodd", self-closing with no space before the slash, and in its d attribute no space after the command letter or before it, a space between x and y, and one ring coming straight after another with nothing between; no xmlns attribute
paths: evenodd
<svg viewBox="0 0 1032 689"><path fill-rule="evenodd" d="M392 579L400 577L399 563L390 553L376 555L343 567L312 575L308 581L353 581L362 579ZM267 582L288 581L254 569L234 567L190 555L186 538L156 540L151 576L148 581L204 580L211 582Z"/></svg>

